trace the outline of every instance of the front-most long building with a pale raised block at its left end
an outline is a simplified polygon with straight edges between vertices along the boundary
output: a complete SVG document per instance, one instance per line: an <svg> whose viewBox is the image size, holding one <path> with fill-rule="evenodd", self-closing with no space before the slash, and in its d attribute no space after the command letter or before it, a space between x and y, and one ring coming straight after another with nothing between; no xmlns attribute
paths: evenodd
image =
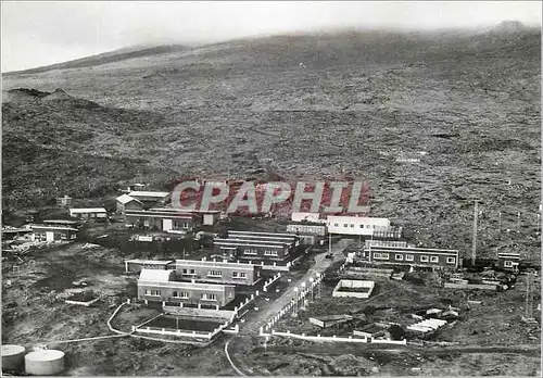
<svg viewBox="0 0 543 378"><path fill-rule="evenodd" d="M148 302L223 307L236 297L235 286L175 281L175 270L142 269L138 299Z"/></svg>

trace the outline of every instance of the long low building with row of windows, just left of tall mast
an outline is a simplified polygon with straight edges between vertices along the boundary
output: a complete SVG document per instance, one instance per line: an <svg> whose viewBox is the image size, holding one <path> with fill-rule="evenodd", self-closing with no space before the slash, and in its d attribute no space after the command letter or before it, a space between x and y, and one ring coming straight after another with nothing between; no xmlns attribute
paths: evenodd
<svg viewBox="0 0 543 378"><path fill-rule="evenodd" d="M404 247L369 247L361 256L374 264L412 265L426 267L457 268L457 250Z"/></svg>

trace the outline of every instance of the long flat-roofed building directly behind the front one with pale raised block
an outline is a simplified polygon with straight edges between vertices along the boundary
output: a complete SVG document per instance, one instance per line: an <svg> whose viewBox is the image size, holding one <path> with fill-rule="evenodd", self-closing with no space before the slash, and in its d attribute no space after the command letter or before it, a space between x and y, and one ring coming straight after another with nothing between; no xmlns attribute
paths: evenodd
<svg viewBox="0 0 543 378"><path fill-rule="evenodd" d="M177 277L197 282L252 286L261 278L261 266L242 263L176 260Z"/></svg>

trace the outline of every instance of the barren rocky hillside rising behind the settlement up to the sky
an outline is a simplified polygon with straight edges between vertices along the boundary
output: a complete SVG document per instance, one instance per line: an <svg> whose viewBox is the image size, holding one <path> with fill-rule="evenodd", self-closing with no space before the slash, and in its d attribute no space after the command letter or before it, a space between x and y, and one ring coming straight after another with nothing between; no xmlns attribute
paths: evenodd
<svg viewBox="0 0 543 378"><path fill-rule="evenodd" d="M365 180L371 215L462 253L469 200L481 199L481 253L539 261L540 54L540 30L505 23L157 48L7 74L4 217L60 194L100 199L123 179L162 189L272 161L289 178Z"/></svg>

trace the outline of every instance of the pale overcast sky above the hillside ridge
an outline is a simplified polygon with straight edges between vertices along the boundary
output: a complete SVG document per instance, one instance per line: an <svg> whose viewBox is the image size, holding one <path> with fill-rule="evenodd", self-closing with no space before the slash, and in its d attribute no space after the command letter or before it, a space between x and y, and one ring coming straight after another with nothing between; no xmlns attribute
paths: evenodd
<svg viewBox="0 0 543 378"><path fill-rule="evenodd" d="M541 25L540 1L2 1L2 72L139 43L207 42L331 27Z"/></svg>

